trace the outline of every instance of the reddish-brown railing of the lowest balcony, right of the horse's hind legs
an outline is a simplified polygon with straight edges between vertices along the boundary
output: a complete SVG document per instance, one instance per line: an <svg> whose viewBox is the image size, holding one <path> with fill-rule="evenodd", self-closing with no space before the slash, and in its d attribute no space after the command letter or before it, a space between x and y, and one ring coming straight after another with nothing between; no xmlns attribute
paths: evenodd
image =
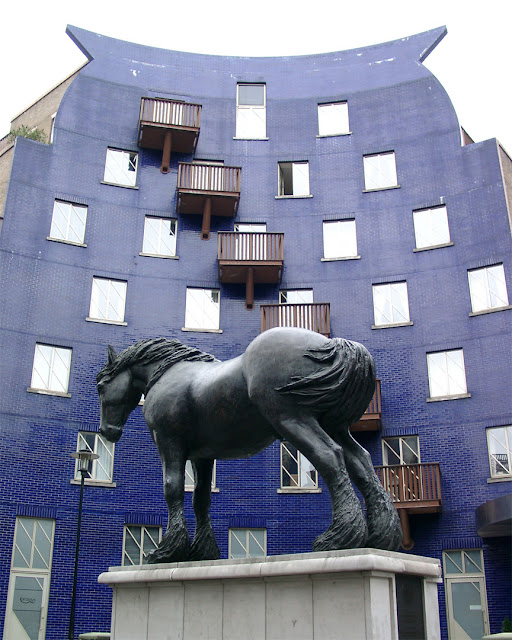
<svg viewBox="0 0 512 640"><path fill-rule="evenodd" d="M438 462L375 467L375 472L393 502L441 503Z"/></svg>

